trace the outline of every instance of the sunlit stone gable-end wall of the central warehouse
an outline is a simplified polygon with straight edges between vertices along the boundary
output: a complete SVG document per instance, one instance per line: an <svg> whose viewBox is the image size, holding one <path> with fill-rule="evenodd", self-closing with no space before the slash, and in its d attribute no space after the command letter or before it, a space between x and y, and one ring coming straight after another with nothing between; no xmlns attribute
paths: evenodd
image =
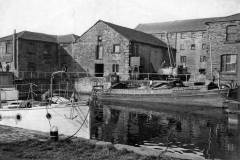
<svg viewBox="0 0 240 160"><path fill-rule="evenodd" d="M96 59L98 36L101 36L103 58ZM113 53L113 45L120 45L120 52ZM104 76L112 73L112 65L119 64L121 80L127 80L129 70L129 41L105 23L99 21L82 35L80 41L73 45L75 61L84 71L92 76L95 74L95 64L104 64Z"/></svg>

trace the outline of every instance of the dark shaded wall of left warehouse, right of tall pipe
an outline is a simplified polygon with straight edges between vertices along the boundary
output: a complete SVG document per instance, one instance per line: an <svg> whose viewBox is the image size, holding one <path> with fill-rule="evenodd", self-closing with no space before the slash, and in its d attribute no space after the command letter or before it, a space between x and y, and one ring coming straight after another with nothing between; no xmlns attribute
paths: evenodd
<svg viewBox="0 0 240 160"><path fill-rule="evenodd" d="M18 40L18 71L52 72L58 66L58 44Z"/></svg>

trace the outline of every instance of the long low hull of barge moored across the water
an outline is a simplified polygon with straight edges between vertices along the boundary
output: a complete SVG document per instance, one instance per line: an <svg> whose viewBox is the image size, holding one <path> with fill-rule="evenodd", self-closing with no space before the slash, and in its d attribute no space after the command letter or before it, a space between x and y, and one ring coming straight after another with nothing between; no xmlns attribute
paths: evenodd
<svg viewBox="0 0 240 160"><path fill-rule="evenodd" d="M127 90L117 89L98 96L101 101L159 103L179 106L223 107L228 90Z"/></svg>

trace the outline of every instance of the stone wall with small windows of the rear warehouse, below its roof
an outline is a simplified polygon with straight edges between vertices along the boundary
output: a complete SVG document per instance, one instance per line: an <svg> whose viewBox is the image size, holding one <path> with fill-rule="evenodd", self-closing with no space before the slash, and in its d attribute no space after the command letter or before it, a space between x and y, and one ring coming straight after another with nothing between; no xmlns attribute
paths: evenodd
<svg viewBox="0 0 240 160"><path fill-rule="evenodd" d="M183 37L181 35L184 35ZM153 33L154 36L167 43L166 33ZM207 56L208 37L205 31L195 32L177 32L168 33L169 44L176 49L177 66L184 65L180 61L181 56L186 56L186 67L188 72L194 75L199 74L199 69L206 69L207 62L200 62L200 56ZM195 44L195 49L191 49L191 45ZM203 47L203 45L205 45Z"/></svg>

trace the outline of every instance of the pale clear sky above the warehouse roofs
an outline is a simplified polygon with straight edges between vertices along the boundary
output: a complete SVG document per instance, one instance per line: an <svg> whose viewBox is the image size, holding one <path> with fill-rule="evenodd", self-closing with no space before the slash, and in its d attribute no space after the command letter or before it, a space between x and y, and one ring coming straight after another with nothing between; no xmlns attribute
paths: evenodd
<svg viewBox="0 0 240 160"><path fill-rule="evenodd" d="M134 28L236 13L240 0L0 0L0 37L14 29L81 35L99 19Z"/></svg>

